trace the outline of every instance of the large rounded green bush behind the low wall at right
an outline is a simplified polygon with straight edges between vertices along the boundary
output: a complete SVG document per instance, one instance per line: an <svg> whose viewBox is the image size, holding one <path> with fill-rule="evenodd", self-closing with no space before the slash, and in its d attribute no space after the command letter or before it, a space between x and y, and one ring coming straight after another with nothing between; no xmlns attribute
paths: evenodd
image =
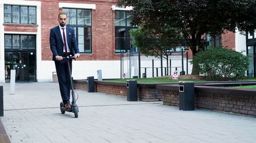
<svg viewBox="0 0 256 143"><path fill-rule="evenodd" d="M205 51L198 52L190 63L207 80L236 80L245 77L249 69L249 56L231 49L209 46Z"/></svg>

